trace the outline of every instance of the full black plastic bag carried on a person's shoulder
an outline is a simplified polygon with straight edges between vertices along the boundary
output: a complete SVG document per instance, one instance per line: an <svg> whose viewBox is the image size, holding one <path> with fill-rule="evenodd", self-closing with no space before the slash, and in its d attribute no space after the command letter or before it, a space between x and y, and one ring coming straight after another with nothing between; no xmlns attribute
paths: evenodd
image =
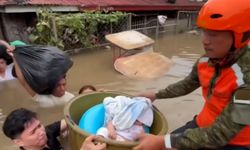
<svg viewBox="0 0 250 150"><path fill-rule="evenodd" d="M16 46L14 59L29 86L38 94L51 94L73 62L57 47Z"/></svg>

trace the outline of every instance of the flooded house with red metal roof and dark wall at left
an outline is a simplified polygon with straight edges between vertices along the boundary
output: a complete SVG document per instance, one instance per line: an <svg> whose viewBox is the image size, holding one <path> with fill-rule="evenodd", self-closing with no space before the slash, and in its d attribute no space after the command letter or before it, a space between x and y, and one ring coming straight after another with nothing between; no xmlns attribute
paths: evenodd
<svg viewBox="0 0 250 150"><path fill-rule="evenodd" d="M125 11L145 16L167 14L176 17L178 11L198 11L204 0L1 0L0 39L28 42L28 27L36 23L36 12L41 7L54 12L84 10Z"/></svg>

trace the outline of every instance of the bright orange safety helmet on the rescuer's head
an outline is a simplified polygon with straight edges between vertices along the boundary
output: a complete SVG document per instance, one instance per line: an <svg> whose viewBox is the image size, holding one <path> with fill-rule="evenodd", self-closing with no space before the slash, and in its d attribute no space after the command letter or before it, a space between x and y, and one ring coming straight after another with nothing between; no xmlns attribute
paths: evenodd
<svg viewBox="0 0 250 150"><path fill-rule="evenodd" d="M208 0L201 8L197 26L234 33L234 46L250 41L250 0Z"/></svg>

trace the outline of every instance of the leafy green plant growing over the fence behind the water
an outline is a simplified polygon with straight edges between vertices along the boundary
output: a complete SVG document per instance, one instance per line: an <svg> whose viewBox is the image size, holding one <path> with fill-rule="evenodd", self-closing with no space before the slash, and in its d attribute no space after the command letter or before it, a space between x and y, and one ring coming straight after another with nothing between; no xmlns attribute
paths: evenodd
<svg viewBox="0 0 250 150"><path fill-rule="evenodd" d="M98 25L116 24L126 16L123 12L85 11L60 14L40 10L30 39L36 44L54 45L64 50L86 48L92 45L91 40L97 33Z"/></svg>

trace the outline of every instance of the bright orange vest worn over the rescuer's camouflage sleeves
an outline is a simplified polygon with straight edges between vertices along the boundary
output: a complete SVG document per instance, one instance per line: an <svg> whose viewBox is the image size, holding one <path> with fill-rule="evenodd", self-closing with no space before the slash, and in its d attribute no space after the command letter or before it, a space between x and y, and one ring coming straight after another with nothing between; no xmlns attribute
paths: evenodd
<svg viewBox="0 0 250 150"><path fill-rule="evenodd" d="M216 76L215 67L209 65L206 57L200 59L197 69L205 104L196 122L199 127L207 127L228 105L233 92L244 84L243 73L235 63L231 67L220 69L219 75ZM214 86L211 86L213 82ZM243 128L229 144L250 146L250 125Z"/></svg>

